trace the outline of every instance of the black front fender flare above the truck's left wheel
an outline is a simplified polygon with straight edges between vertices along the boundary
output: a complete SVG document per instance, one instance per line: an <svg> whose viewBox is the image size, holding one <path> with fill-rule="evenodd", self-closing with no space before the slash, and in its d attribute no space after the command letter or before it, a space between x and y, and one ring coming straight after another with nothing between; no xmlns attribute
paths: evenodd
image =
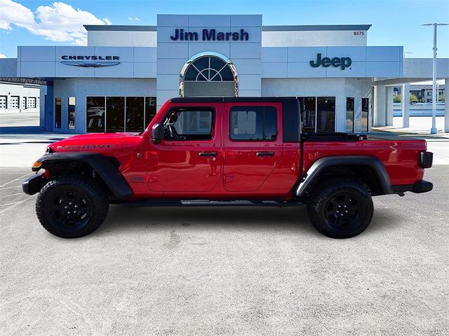
<svg viewBox="0 0 449 336"><path fill-rule="evenodd" d="M80 161L89 165L93 170L95 170L95 174L98 174L98 176L100 176L100 178L106 183L115 197L125 198L133 195L133 190L121 172L119 172L119 161L114 157L107 157L100 153L47 153L36 160L36 162L41 162L41 165L36 165L35 163L32 170L33 172L38 172L40 169L50 168L56 162L65 161Z"/></svg>

